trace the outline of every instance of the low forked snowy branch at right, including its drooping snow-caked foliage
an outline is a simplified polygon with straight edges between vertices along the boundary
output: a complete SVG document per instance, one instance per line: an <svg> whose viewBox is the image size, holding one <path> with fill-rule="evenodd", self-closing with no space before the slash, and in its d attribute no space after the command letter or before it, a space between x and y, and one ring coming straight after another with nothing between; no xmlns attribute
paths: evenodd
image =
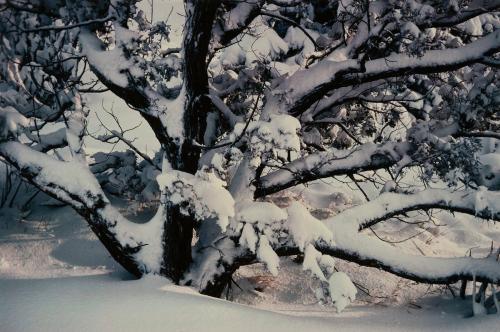
<svg viewBox="0 0 500 332"><path fill-rule="evenodd" d="M396 214L428 208L500 220L500 196L484 188L476 191L428 189L414 194L385 193L324 221L313 217L301 204L294 203L287 210L288 220L283 223L290 239L273 249L281 254L304 252L304 269L329 285L332 299L335 296L339 301L336 304L338 310L354 299L355 292L348 292L350 281L346 275L333 273L327 278L325 271L331 273L334 263L323 255L383 269L418 282L449 284L473 278L493 283L500 281L500 263L496 255L484 259L416 256L359 232ZM344 285L338 286L340 281L337 279L343 280Z"/></svg>

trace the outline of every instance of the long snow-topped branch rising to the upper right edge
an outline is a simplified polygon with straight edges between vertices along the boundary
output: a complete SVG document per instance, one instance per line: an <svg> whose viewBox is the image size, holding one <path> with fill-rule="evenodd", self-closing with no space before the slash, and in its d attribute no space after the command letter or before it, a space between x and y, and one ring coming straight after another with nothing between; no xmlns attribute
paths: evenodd
<svg viewBox="0 0 500 332"><path fill-rule="evenodd" d="M420 57L392 54L366 61L322 60L285 79L266 103L267 112L301 113L334 89L388 79L407 74L429 74L456 70L480 62L484 56L500 50L500 30L462 47L430 50ZM284 97L286 95L286 97Z"/></svg>

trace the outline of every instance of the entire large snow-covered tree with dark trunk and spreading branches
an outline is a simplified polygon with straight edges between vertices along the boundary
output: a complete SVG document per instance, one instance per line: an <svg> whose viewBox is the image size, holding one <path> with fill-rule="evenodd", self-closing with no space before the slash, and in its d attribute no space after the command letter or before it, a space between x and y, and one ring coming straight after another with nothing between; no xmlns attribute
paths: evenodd
<svg viewBox="0 0 500 332"><path fill-rule="evenodd" d="M433 209L500 219L498 172L480 163L496 151L482 138L500 138L499 1L186 1L180 50L168 48L169 13L153 24L136 1L1 6L0 156L132 274L219 296L238 267L276 274L278 256L304 253L339 310L355 292L331 257L419 282L500 281L498 253L407 255L364 231ZM131 152L85 154L82 94L107 90L144 118L160 157L122 127L99 138ZM161 170L148 223L112 206L110 169L139 174L132 191ZM410 173L417 185L402 181ZM383 188L324 220L273 203L333 176Z"/></svg>

